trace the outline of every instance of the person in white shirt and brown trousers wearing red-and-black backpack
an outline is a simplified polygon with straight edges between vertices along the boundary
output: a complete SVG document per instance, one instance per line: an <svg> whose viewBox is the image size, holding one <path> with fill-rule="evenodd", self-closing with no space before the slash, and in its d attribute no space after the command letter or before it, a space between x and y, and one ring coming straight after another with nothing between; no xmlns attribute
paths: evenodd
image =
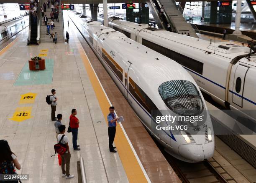
<svg viewBox="0 0 256 183"><path fill-rule="evenodd" d="M69 139L67 138L66 135L64 135L65 131L66 131L66 126L60 125L59 126L60 134L57 136L57 140L62 145L65 145L67 148L67 151L61 155L61 170L62 170L62 177L66 177L66 179L70 179L70 178L74 178L74 175L70 175L69 173L71 154L69 151L69 144L68 144ZM65 170L65 167L66 167L66 170Z"/></svg>

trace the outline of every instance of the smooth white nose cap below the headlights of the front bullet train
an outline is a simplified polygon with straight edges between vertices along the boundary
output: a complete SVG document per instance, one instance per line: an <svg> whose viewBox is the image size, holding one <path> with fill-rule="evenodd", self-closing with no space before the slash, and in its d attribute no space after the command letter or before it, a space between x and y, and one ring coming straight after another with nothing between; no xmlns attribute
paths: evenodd
<svg viewBox="0 0 256 183"><path fill-rule="evenodd" d="M212 158L214 153L214 142L199 145L180 145L178 151L183 158L189 161L203 161Z"/></svg>

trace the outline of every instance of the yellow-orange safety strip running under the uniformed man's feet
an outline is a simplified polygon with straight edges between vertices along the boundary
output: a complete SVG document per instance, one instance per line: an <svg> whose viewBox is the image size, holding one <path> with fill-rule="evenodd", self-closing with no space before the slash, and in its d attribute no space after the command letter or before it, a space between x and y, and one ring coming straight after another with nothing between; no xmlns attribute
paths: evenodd
<svg viewBox="0 0 256 183"><path fill-rule="evenodd" d="M110 107L108 98L105 95L102 86L100 85L100 81L97 79L97 76L95 75L92 65L90 64L90 61L87 58L87 55L84 53L82 45L80 43L77 43L77 47L79 49L79 53L83 60L84 66L87 70L87 74L92 83L92 87L97 96L97 100L100 103L100 108L105 117L106 123L108 123L107 115L109 114L109 107ZM148 177L146 178L138 160L136 159L135 154L133 153L133 150L127 138L125 137L125 133L123 132L120 125L117 125L117 129L116 129L115 146L117 147L119 157L122 161L123 168L125 169L125 173L127 175L129 182L130 183L148 182L149 179Z"/></svg>

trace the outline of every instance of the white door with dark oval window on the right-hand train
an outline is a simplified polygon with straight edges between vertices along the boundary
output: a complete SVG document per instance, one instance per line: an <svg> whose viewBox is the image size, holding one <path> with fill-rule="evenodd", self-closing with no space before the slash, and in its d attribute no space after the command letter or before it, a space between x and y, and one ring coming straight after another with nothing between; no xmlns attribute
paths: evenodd
<svg viewBox="0 0 256 183"><path fill-rule="evenodd" d="M248 69L246 66L238 65L234 77L232 102L241 108L243 107L243 89Z"/></svg>

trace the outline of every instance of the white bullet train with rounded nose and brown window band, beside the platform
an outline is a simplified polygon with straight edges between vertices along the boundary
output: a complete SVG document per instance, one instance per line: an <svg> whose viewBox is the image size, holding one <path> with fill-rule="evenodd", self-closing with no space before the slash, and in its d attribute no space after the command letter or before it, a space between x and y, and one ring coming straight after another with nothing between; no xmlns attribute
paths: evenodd
<svg viewBox="0 0 256 183"><path fill-rule="evenodd" d="M74 13L69 16L143 125L168 153L187 162L212 157L214 133L205 100L181 65L100 22ZM166 115L179 120L158 121ZM200 116L202 120L192 121ZM174 130L167 129L174 125Z"/></svg>

